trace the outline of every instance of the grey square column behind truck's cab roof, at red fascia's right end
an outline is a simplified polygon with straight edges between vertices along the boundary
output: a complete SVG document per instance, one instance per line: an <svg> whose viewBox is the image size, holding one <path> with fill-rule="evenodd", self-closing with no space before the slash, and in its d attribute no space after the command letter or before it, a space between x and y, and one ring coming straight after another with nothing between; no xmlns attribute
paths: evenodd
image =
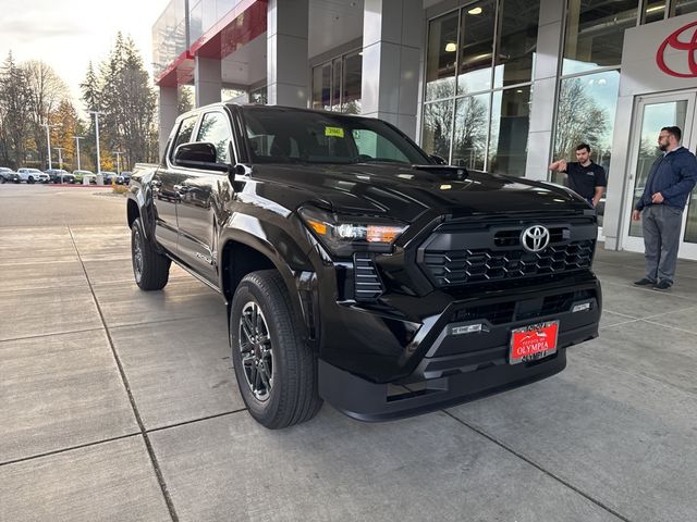
<svg viewBox="0 0 697 522"><path fill-rule="evenodd" d="M269 0L267 97L270 105L307 107L308 0Z"/></svg>

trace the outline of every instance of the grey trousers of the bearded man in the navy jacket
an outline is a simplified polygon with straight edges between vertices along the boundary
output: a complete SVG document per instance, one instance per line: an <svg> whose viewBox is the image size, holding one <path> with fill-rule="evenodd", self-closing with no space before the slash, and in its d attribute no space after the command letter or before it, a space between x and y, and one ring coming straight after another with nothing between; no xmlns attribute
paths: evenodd
<svg viewBox="0 0 697 522"><path fill-rule="evenodd" d="M646 277L673 283L683 209L667 204L649 204L641 212Z"/></svg>

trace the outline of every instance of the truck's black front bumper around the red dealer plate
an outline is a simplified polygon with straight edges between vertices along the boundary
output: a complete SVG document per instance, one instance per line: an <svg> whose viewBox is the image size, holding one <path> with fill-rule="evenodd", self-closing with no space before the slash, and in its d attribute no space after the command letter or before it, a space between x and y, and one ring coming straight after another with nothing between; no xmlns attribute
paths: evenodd
<svg viewBox="0 0 697 522"><path fill-rule="evenodd" d="M334 339L344 350L353 343L343 357L320 351L320 396L355 419L382 421L528 384L562 371L568 346L598 336L602 304L600 286L590 273L533 288L440 299L440 313L426 313L412 336L384 313L344 310L344 325L358 324L348 316L360 314L360 326L344 328L345 335ZM428 302L421 301L421 307ZM574 311L580 304L588 309ZM509 364L511 331L551 320L560 323L557 353ZM461 333L461 326L472 324L481 330Z"/></svg>

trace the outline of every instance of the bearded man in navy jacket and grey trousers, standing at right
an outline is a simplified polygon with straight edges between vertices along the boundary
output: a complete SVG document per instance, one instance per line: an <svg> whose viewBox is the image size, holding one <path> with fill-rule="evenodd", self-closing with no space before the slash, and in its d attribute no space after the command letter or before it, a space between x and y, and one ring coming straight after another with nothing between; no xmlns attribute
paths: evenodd
<svg viewBox="0 0 697 522"><path fill-rule="evenodd" d="M680 145L681 129L663 127L658 146L663 151L649 172L644 194L637 201L632 220L643 220L646 275L635 282L668 290L673 286L683 209L697 183L697 160Z"/></svg>

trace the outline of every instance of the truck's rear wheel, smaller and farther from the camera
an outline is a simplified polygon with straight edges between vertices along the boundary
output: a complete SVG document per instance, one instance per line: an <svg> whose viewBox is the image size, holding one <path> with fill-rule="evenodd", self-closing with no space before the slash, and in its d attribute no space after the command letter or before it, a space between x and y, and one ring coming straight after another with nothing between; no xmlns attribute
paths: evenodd
<svg viewBox="0 0 697 522"><path fill-rule="evenodd" d="M171 261L145 237L140 219L131 226L131 262L135 283L142 290L161 290L170 277Z"/></svg>

